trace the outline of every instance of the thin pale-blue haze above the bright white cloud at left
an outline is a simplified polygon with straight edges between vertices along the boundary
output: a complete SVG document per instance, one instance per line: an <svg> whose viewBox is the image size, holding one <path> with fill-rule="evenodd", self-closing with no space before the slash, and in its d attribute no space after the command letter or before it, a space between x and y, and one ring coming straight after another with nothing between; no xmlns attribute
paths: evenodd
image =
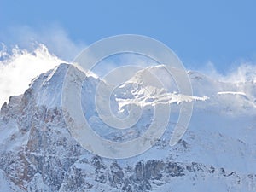
<svg viewBox="0 0 256 192"><path fill-rule="evenodd" d="M38 29L30 26L14 26L0 32L0 41L4 44L18 44L21 49L32 51L37 44L45 44L49 52L65 61L73 61L74 57L84 49L81 42L74 42L61 26L51 24Z"/></svg>

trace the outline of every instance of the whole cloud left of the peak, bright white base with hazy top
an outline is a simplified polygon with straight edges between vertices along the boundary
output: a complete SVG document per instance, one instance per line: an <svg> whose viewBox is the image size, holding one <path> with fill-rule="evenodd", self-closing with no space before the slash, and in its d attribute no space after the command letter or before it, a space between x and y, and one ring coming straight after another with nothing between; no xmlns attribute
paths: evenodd
<svg viewBox="0 0 256 192"><path fill-rule="evenodd" d="M13 26L0 32L0 106L22 94L30 81L61 62L73 61L86 47L74 43L61 26ZM19 47L18 47L18 46Z"/></svg>

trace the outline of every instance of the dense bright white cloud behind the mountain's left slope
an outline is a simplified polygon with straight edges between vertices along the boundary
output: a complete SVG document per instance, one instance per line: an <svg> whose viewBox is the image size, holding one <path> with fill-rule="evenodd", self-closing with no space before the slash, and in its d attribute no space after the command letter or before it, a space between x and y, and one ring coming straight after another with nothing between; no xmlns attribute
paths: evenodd
<svg viewBox="0 0 256 192"><path fill-rule="evenodd" d="M33 78L63 62L43 45L32 52L15 47L10 53L0 51L0 106L9 96L20 95Z"/></svg>

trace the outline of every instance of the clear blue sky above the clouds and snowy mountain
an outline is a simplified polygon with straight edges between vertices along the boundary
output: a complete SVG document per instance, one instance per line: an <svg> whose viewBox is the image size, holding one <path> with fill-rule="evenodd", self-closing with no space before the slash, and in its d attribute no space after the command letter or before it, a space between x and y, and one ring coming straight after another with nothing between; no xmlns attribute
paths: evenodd
<svg viewBox="0 0 256 192"><path fill-rule="evenodd" d="M108 36L141 34L169 46L187 68L211 61L225 73L256 61L255 8L253 0L0 0L0 42L19 44L24 27L39 33L61 29L81 46Z"/></svg>

